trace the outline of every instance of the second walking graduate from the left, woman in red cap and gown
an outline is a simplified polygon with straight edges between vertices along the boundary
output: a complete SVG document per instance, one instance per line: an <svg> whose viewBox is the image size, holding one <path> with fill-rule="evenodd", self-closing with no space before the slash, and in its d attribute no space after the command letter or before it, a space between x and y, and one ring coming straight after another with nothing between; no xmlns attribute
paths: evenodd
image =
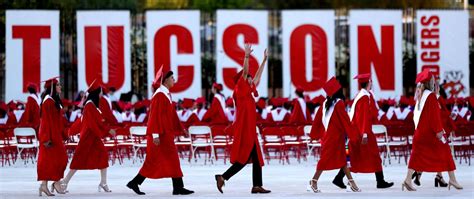
<svg viewBox="0 0 474 199"><path fill-rule="evenodd" d="M65 189L77 170L100 170L98 191L112 192L107 186L107 167L109 167L109 153L102 138L115 135L115 130L105 122L99 110L102 87L93 81L87 89L87 99L82 115L80 139L69 166L70 170L64 179Z"/></svg>

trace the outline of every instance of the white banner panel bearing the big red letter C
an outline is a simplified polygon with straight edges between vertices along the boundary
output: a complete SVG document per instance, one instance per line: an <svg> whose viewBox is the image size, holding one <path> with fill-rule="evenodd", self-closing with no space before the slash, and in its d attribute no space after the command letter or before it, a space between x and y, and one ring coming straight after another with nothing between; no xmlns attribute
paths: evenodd
<svg viewBox="0 0 474 199"><path fill-rule="evenodd" d="M177 17L179 16L179 17ZM174 72L173 100L201 96L199 11L147 11L148 96L156 71Z"/></svg>

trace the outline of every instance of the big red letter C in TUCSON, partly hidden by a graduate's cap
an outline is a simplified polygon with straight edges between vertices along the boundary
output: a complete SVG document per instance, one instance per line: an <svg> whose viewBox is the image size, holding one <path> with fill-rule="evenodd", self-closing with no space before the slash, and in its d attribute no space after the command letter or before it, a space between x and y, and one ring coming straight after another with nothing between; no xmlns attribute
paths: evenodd
<svg viewBox="0 0 474 199"><path fill-rule="evenodd" d="M178 54L193 54L193 36L191 32L183 26L168 25L164 26L155 34L154 39L154 58L155 72L163 65L163 71L170 70L171 52L170 37L175 36L178 44ZM171 92L182 92L188 89L193 83L194 66L178 66L178 81L175 83ZM201 72L201 71L199 71Z"/></svg>

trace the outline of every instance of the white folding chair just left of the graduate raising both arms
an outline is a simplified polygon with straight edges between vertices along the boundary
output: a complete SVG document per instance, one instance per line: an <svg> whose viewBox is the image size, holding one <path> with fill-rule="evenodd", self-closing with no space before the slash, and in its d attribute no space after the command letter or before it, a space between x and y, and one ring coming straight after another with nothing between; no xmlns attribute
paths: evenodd
<svg viewBox="0 0 474 199"><path fill-rule="evenodd" d="M188 132L191 137L191 157L189 162L192 162L191 160L197 162L196 150L198 148L205 148L207 149L208 156L206 156L204 164L206 164L208 159L213 163L214 145L211 128L209 126L190 126Z"/></svg>

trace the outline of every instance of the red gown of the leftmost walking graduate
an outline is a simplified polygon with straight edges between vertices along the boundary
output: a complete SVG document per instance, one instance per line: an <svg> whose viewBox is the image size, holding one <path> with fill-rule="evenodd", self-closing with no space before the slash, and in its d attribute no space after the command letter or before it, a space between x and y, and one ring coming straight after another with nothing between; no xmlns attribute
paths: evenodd
<svg viewBox="0 0 474 199"><path fill-rule="evenodd" d="M36 102L35 102L36 103ZM59 181L67 167L67 153L63 143L65 124L59 110L51 97L46 97L41 105L39 127L39 153L37 173L38 181ZM43 143L51 140L52 146L46 148Z"/></svg>

